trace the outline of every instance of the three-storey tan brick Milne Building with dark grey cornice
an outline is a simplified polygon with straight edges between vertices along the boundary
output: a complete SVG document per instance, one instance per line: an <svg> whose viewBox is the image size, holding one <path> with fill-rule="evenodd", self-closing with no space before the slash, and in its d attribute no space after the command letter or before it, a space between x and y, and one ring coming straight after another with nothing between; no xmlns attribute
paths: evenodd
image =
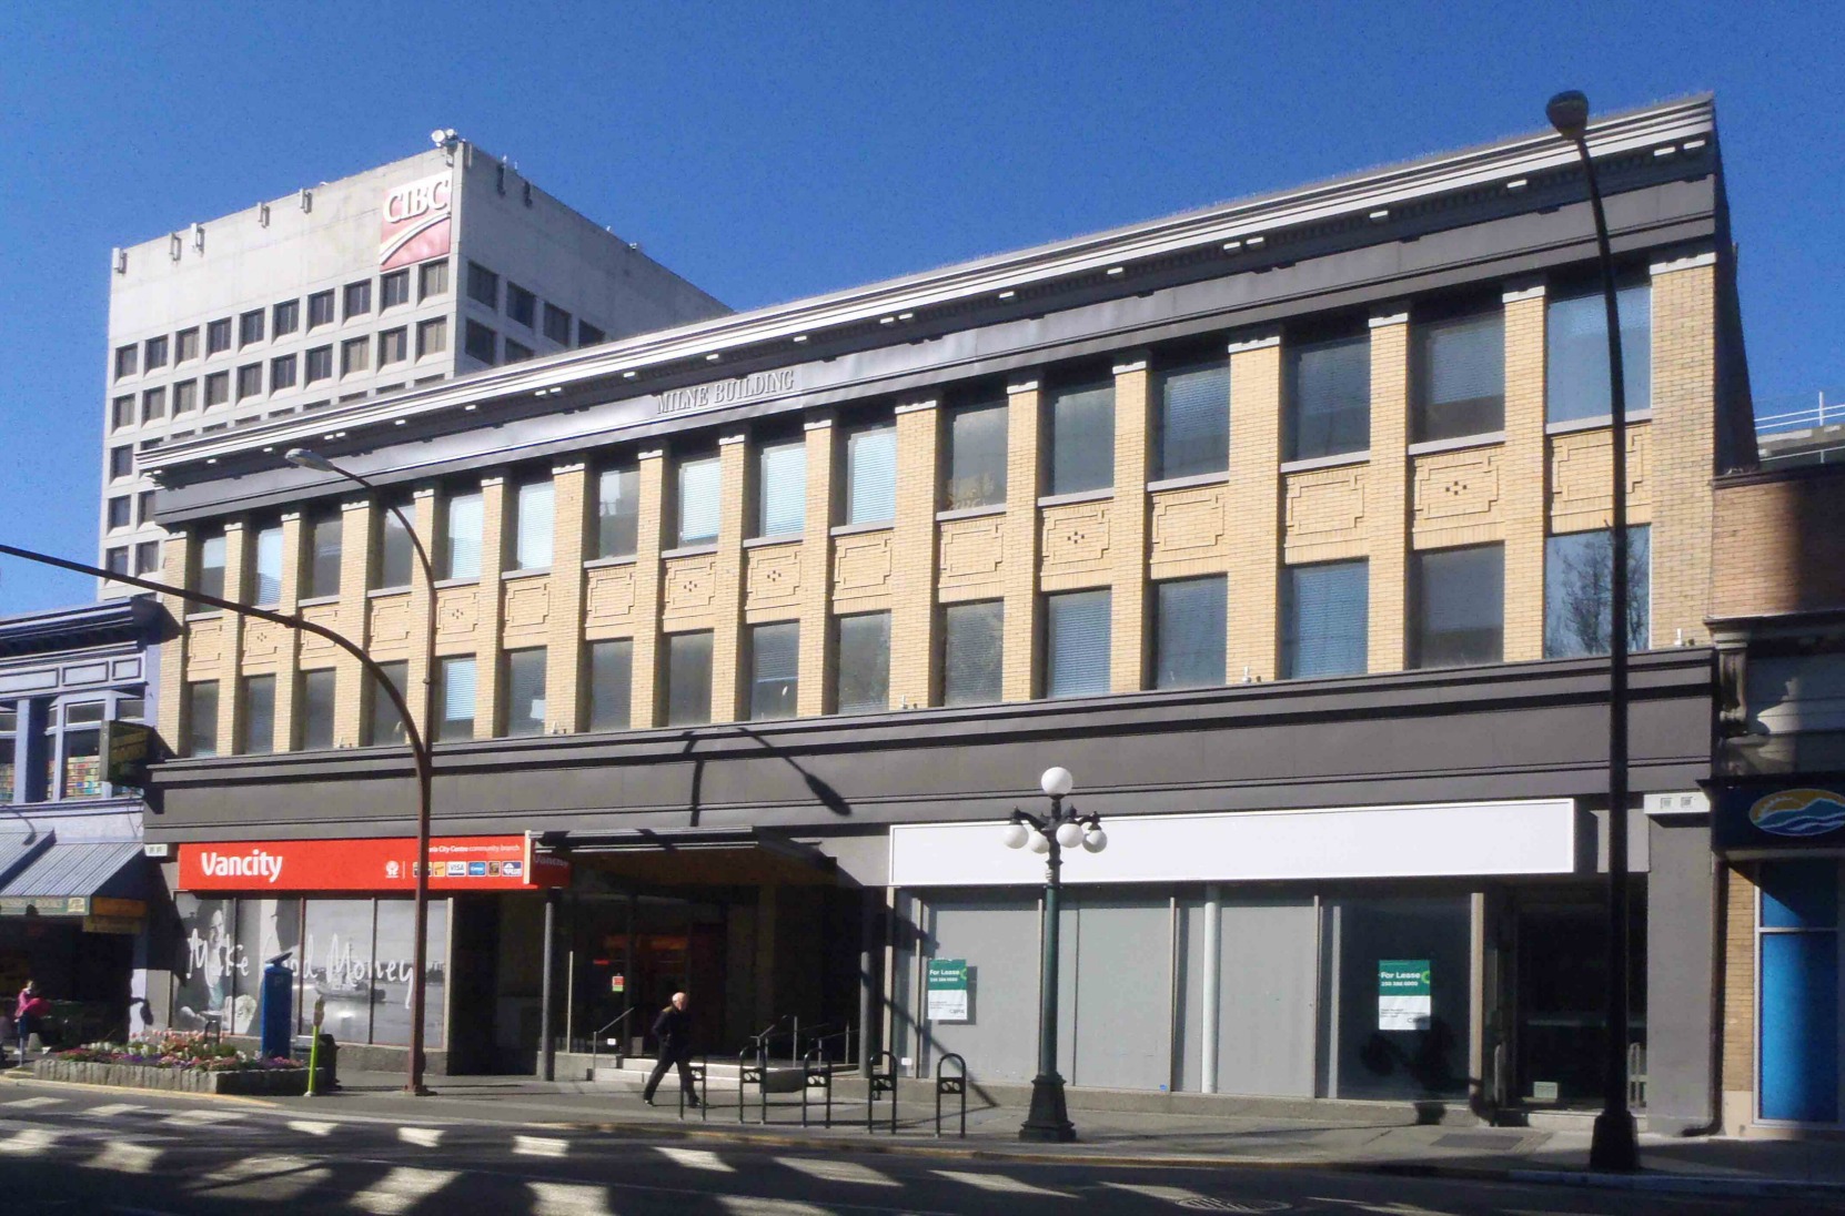
<svg viewBox="0 0 1845 1216"><path fill-rule="evenodd" d="M1629 1031L1653 1126L1694 1126L1712 476L1753 432L1710 101L1590 146L1644 650ZM1594 1103L1616 626L1572 157L1507 140L197 435L144 461L166 578L428 681L450 1070L688 987L714 1052L799 1015L1030 1078L1042 873L998 825L1061 764L1111 838L1065 871L1076 1085ZM183 912L303 947L347 1041L402 1043L400 725L315 638L168 607L148 836ZM967 965L958 1015L932 961Z"/></svg>

